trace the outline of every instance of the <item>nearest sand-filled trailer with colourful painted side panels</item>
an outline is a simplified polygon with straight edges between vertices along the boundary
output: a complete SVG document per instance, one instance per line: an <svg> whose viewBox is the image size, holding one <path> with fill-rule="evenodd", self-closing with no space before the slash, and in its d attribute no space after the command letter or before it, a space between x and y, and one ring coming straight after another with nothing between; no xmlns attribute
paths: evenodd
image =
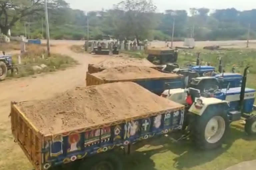
<svg viewBox="0 0 256 170"><path fill-rule="evenodd" d="M129 153L137 141L181 129L183 115L183 105L136 83L118 82L12 102L11 128L36 170L71 162L78 170L120 170L114 148Z"/></svg>

